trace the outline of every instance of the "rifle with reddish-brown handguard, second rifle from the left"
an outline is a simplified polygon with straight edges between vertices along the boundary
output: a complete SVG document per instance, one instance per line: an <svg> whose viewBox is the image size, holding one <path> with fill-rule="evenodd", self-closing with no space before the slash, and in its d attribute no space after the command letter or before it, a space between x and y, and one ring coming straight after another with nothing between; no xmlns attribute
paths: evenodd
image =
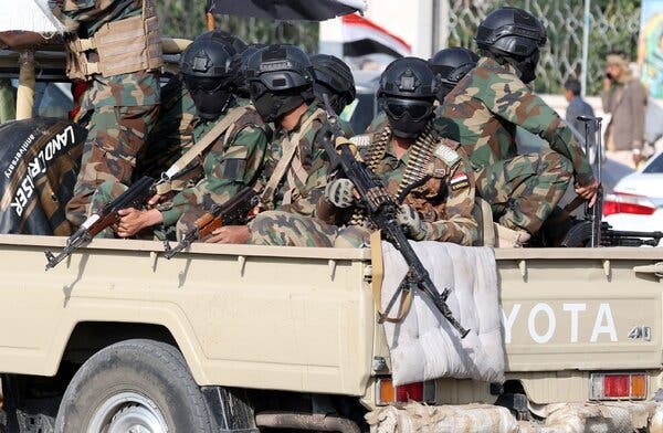
<svg viewBox="0 0 663 433"><path fill-rule="evenodd" d="M182 240L170 247L168 241L164 241L164 257L170 260L173 255L188 247L199 239L209 237L212 232L222 225L245 224L249 213L259 203L259 197L252 188L245 187L235 197L223 204L214 204L209 212L193 222L193 228L185 233Z"/></svg>

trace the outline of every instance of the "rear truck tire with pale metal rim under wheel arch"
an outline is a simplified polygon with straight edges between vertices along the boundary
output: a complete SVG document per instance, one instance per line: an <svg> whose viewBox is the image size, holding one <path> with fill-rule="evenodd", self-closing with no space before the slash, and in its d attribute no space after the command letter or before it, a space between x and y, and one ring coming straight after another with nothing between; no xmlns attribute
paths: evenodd
<svg viewBox="0 0 663 433"><path fill-rule="evenodd" d="M200 388L175 347L135 339L99 350L70 382L55 420L56 433L125 433L131 427L212 432Z"/></svg>

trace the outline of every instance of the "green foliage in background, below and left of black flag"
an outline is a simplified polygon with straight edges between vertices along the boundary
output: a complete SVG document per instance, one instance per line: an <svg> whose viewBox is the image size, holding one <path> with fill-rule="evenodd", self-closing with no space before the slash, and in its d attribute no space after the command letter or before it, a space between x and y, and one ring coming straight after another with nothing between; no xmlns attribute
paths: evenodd
<svg viewBox="0 0 663 433"><path fill-rule="evenodd" d="M206 1L159 0L157 12L164 35L194 39L207 31ZM227 31L246 43L294 43L309 53L317 51L319 25L316 22L288 23L222 15L215 18L215 28Z"/></svg>

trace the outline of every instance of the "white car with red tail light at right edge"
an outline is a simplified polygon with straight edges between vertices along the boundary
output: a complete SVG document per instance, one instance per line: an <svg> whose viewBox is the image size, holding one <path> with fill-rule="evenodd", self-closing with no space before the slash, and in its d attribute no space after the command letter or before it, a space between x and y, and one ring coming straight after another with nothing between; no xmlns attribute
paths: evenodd
<svg viewBox="0 0 663 433"><path fill-rule="evenodd" d="M606 196L603 221L614 230L663 231L663 152L621 179Z"/></svg>

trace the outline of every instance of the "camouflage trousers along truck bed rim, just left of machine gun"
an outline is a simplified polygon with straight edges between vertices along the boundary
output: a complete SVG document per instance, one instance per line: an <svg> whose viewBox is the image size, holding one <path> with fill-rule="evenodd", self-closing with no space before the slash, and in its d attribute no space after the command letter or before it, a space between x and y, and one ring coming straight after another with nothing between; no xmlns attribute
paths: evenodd
<svg viewBox="0 0 663 433"><path fill-rule="evenodd" d="M259 213L249 223L249 244L276 246L361 247L368 233L356 225L338 228L317 218L283 211Z"/></svg>

